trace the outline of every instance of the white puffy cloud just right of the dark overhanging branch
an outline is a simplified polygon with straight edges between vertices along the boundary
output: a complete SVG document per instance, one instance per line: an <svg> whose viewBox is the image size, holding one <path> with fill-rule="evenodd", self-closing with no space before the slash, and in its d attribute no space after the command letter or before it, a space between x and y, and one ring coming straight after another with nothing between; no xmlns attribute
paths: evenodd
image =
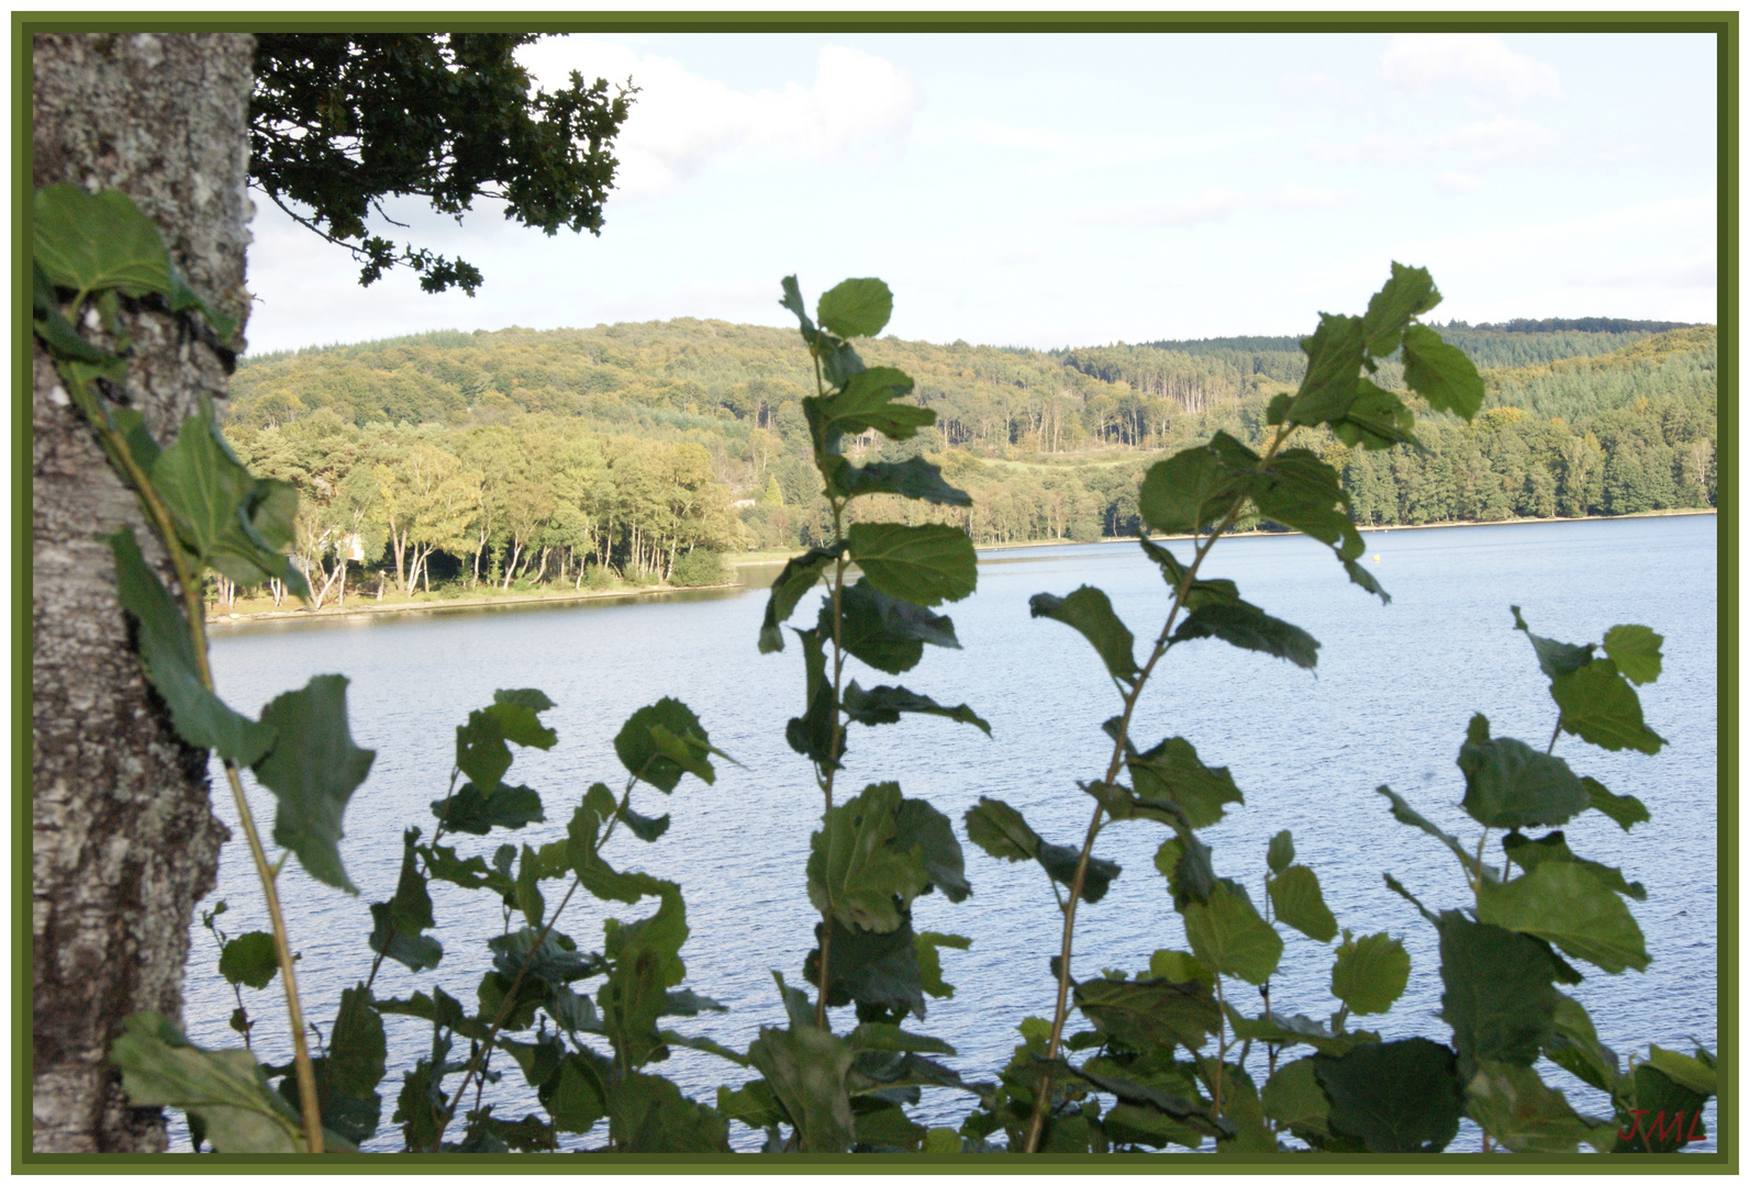
<svg viewBox="0 0 1750 1186"><path fill-rule="evenodd" d="M536 42L522 61L544 86L570 70L626 79L639 87L632 115L614 142L616 198L668 192L714 161L752 154L826 157L903 142L924 105L922 91L891 61L844 45L824 45L812 86L746 94L691 73L672 58L626 45L564 37Z"/></svg>

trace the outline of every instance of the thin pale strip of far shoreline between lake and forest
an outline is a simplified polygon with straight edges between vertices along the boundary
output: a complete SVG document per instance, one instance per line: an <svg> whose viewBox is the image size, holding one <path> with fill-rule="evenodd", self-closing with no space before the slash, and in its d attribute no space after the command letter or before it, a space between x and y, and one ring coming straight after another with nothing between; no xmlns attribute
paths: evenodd
<svg viewBox="0 0 1750 1186"><path fill-rule="evenodd" d="M1468 520L1452 520L1444 523L1393 523L1386 527L1362 527L1363 535L1374 535L1379 532L1424 532L1435 528L1449 527L1514 527L1526 523L1591 523L1601 520L1654 520L1654 518L1673 518L1685 514L1718 514L1713 507L1703 509L1680 509L1680 511L1642 511L1636 514L1587 514L1577 518L1556 518L1556 520L1491 520L1488 523L1475 523ZM1260 535L1298 535L1298 532L1239 532L1241 539L1260 537ZM1190 539L1188 535L1160 535L1157 539ZM1012 551L1018 548L1066 548L1071 544L1134 544L1134 535L1120 535L1097 541L1073 541L1073 539L1034 539L1017 544L976 544L978 551ZM756 551L724 556L723 563L730 569L744 569L751 565L777 565L784 563L791 556L800 556L802 548L793 551ZM268 609L242 609L240 612L229 614L206 614L206 623L210 626L242 626L256 621L312 621L312 619L332 619L332 617L371 617L376 614L434 614L452 609L488 609L495 605L574 605L578 602L602 602L602 600L621 600L634 596L672 596L676 593L705 593L712 590L733 590L740 588L740 581L723 581L718 584L700 584L700 586L676 586L676 584L651 584L644 588L621 588L621 590L590 590L590 591L553 591L553 593L525 593L525 595L506 595L506 596L430 596L415 595L422 600L401 600L399 596L390 602L378 602L371 593L354 593L346 598L345 605L324 605L322 609L312 610L303 607L268 607ZM250 598L266 600L266 598Z"/></svg>

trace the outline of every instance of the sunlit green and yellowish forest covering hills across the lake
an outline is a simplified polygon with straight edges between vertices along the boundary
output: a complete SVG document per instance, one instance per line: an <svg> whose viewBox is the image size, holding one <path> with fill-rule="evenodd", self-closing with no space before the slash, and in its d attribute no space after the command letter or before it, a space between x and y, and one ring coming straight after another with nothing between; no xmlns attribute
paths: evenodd
<svg viewBox="0 0 1750 1186"><path fill-rule="evenodd" d="M1484 413L1465 425L1407 395L1421 451L1318 439L1358 523L1715 506L1715 327L1437 329L1482 371ZM852 457L924 453L973 506L875 497L858 513L954 521L976 544L1134 535L1138 483L1162 451L1216 430L1256 446L1269 399L1306 366L1293 338L1052 352L882 338L863 355L906 371L936 423L903 444L870 434ZM1402 367L1376 381L1402 390ZM245 357L226 436L252 471L298 486L318 605L348 583L378 598L709 584L724 553L822 542L810 390L794 332L760 325L439 331Z"/></svg>

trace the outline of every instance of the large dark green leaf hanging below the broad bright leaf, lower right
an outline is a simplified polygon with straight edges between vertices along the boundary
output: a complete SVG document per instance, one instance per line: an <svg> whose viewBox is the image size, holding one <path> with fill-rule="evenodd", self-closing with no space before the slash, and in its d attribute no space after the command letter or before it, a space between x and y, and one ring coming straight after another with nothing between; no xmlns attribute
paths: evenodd
<svg viewBox="0 0 1750 1186"><path fill-rule="evenodd" d="M1502 927L1440 915L1440 1016L1461 1072L1479 1060L1530 1067L1554 1032L1556 964L1540 943Z"/></svg>

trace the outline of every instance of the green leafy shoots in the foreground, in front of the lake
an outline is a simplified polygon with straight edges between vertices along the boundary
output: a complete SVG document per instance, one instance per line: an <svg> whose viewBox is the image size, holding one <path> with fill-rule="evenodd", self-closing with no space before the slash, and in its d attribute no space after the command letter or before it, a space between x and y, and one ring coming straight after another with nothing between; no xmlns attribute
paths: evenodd
<svg viewBox="0 0 1750 1186"><path fill-rule="evenodd" d="M1465 418L1477 413L1475 369L1416 320L1438 301L1426 271L1395 264L1365 315L1321 318L1304 343L1306 380L1269 406L1272 432L1264 450L1216 434L1148 471L1138 493L1143 520L1188 544L1141 541L1167 588L1166 621L1143 661L1102 591L1083 586L1032 598L1036 617L1068 624L1092 644L1120 712L1106 724L1113 743L1106 770L1078 784L1092 799L1080 848L1048 841L999 799L982 799L966 813L966 838L992 859L1040 866L1064 920L1055 1013L1022 1020L1024 1043L985 1083L942 1062L954 1055L947 1041L906 1027L924 1020L926 997L950 992L942 950L971 946L964 936L912 929L919 896L942 890L961 901L971 892L959 838L945 815L905 798L894 782L856 794L836 785L850 724L931 714L989 731L968 705L942 705L900 686L863 687L847 677L852 661L900 675L919 663L926 644L957 647L952 621L934 609L968 596L976 583L962 532L847 514L856 499L877 493L929 506L968 502L924 458L859 465L844 453L847 437L877 432L903 441L934 418L906 402L912 381L905 373L866 367L850 345L886 324L891 294L884 283L845 282L821 297L814 317L794 278L784 283L784 306L798 317L816 376L803 411L833 532L774 583L760 649L782 649L784 623L824 583L816 624L791 631L807 684L802 715L786 728L822 792L807 864L821 920L817 946L800 969L814 997L774 971L784 1023L763 1027L746 1051L691 1027L670 1029L668 1018L723 1008L684 987L681 948L690 929L681 887L625 868L628 838L656 843L670 822L668 813L646 813L648 796L639 801L644 810L635 808L634 791L642 784L670 796L688 775L710 784L712 759L724 757L676 700L625 722L614 738L625 784L618 794L593 784L570 810L564 840L539 848L500 841L490 855L464 847L462 836L513 833L546 819L542 796L508 775L511 747L556 743L541 719L553 703L536 689L511 689L457 728L448 787L430 805L430 836L418 826L402 834L396 892L369 908L369 971L341 995L326 1027L310 1027L320 1036L313 1057L275 889L284 857L266 857L242 794L242 770L276 798L273 841L318 882L357 892L340 852L341 822L373 754L350 740L343 677L318 675L273 700L259 719L219 700L198 595L206 570L234 581L273 577L306 593L284 555L296 497L282 483L252 478L208 409L191 416L170 448L159 448L138 413L116 399L126 388L128 343L116 320L121 299L161 301L175 313L201 315L220 338L229 334L170 269L150 222L119 194L51 187L37 196L35 224L37 338L138 493L184 602L178 609L135 537L119 532L112 546L122 609L138 624L147 675L177 731L222 761L273 922L271 934L226 938L220 955L219 973L238 992L233 1025L245 1050L200 1050L152 1015L131 1018L112 1046L130 1099L182 1107L196 1144L231 1153L355 1148L385 1130L390 1097L388 1127L410 1151L556 1149L562 1135L595 1134L604 1121L604 1148L626 1153L726 1151L730 1121L763 1130L766 1151L810 1153L1101 1153L1209 1141L1216 1149L1269 1153L1283 1149L1284 1139L1316 1151L1416 1153L1444 1149L1461 1118L1484 1132L1486 1146L1516 1153L1671 1151L1698 1137L1701 1107L1717 1090L1713 1055L1650 1046L1624 1067L1598 1041L1584 1006L1558 988L1584 980L1570 960L1605 974L1648 962L1628 906L1645 897L1643 887L1578 855L1566 831L1586 812L1631 829L1648 819L1647 808L1575 773L1552 750L1564 733L1610 750L1654 754L1664 745L1645 724L1634 691L1661 673L1662 640L1652 630L1614 626L1598 644L1573 645L1531 633L1514 609L1550 680L1556 722L1536 750L1494 735L1480 715L1472 719L1458 766L1463 808L1480 827L1475 845L1432 824L1390 787L1379 789L1395 819L1446 847L1460 868L1456 903L1435 897L1438 887L1407 887L1384 875L1407 910L1438 932L1449 1034L1381 1041L1351 1027L1351 1020L1384 1015L1404 994L1412 969L1402 941L1390 929L1339 929L1318 875L1300 862L1286 831L1264 854L1256 899L1246 882L1218 876L1199 833L1242 801L1241 789L1227 770L1206 766L1186 738L1144 750L1129 736L1144 687L1178 645L1216 638L1302 668L1316 665L1320 644L1311 635L1246 602L1232 583L1199 576L1216 541L1244 516L1270 518L1328 544L1351 581L1386 596L1356 563L1362 542L1335 471L1288 443L1325 427L1362 450L1416 448L1409 406L1370 378L1376 360L1398 350L1405 381L1432 408ZM98 339L74 329L91 308L103 324ZM861 576L847 583L852 567ZM1167 833L1155 864L1190 950L1164 946L1136 976L1078 980L1076 915L1083 904L1096 906L1122 873L1094 855L1096 841L1106 827L1132 822ZM1491 834L1500 834L1498 859L1488 847ZM609 854L616 838L621 843ZM500 918L486 945L492 969L455 995L432 980L429 992L380 999L373 988L385 960L413 973L443 962L434 880L483 890L492 901ZM609 918L600 950L584 950L558 927L579 889L628 908L653 899L654 910ZM206 917L208 925L217 913ZM1290 1015L1269 997L1283 925L1326 945L1342 934L1330 973L1342 1006L1328 1020ZM1419 925L1414 917L1410 925ZM242 988L261 990L275 978L287 995L294 1060L261 1065L248 1050L254 1022ZM1258 1016L1230 1001L1241 981L1264 990ZM1092 1030L1066 1036L1071 1009ZM430 1027L430 1046L411 1067L388 1067L390 1016ZM752 1078L719 1088L709 1104L691 1100L653 1069L672 1048L712 1053ZM1538 1074L1544 1057L1606 1092L1614 1116L1577 1113ZM522 1076L537 1111L511 1120L483 1102L485 1085L506 1074ZM906 1113L924 1088L966 1092L976 1109L957 1132L929 1130Z"/></svg>

